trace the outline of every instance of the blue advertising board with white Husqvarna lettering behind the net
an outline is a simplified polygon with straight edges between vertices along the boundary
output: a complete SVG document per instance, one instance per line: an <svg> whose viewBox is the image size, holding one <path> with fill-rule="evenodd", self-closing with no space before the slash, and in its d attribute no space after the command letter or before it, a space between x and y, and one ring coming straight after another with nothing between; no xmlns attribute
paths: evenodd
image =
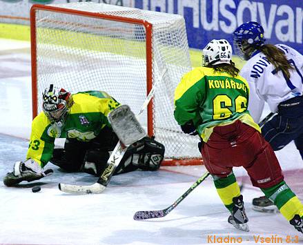
<svg viewBox="0 0 303 245"><path fill-rule="evenodd" d="M136 8L182 14L190 48L204 48L212 39L232 41L232 32L257 21L267 43L285 43L303 53L303 0L135 0Z"/></svg>

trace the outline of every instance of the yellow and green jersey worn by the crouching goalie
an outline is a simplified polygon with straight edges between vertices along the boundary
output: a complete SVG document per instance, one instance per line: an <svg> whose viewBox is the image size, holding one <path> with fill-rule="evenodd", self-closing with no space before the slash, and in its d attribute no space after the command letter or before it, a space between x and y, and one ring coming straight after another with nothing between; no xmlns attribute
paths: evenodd
<svg viewBox="0 0 303 245"><path fill-rule="evenodd" d="M63 128L50 124L41 112L32 121L32 133L26 159L34 159L41 167L52 158L55 138L74 138L90 141L101 133L105 126L111 127L107 116L119 106L113 97L102 91L79 92L72 95L74 104L70 108Z"/></svg>

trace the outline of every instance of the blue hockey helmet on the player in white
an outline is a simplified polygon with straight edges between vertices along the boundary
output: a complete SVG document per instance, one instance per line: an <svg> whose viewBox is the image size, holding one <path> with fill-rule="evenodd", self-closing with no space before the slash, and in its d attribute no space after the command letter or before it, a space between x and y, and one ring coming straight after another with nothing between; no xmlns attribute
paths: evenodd
<svg viewBox="0 0 303 245"><path fill-rule="evenodd" d="M233 32L235 51L240 57L249 56L255 48L264 44L264 29L255 21L242 23Z"/></svg>

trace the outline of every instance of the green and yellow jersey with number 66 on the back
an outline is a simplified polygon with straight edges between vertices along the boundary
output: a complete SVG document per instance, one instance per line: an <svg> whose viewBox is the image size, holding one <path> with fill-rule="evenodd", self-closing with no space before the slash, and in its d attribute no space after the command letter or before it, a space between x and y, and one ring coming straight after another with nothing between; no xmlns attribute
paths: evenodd
<svg viewBox="0 0 303 245"><path fill-rule="evenodd" d="M248 99L249 87L243 77L199 67L186 73L177 86L174 116L181 126L193 121L205 142L215 126L231 124L237 119L260 132L247 110Z"/></svg>

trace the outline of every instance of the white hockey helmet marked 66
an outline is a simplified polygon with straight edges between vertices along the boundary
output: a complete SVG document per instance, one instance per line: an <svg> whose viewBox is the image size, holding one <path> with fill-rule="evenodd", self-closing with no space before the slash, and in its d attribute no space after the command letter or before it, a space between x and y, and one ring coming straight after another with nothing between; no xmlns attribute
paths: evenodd
<svg viewBox="0 0 303 245"><path fill-rule="evenodd" d="M202 66L231 63L233 49L225 39L213 39L203 49Z"/></svg>

